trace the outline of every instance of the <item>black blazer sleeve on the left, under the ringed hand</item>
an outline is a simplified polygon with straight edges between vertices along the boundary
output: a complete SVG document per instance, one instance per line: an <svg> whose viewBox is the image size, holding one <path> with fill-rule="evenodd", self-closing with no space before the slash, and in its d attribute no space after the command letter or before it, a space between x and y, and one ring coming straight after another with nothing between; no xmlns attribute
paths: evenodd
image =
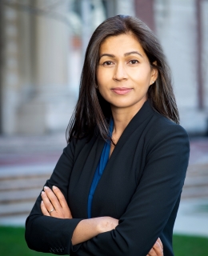
<svg viewBox="0 0 208 256"><path fill-rule="evenodd" d="M63 150L54 172L47 180L46 186L58 186L67 200L70 173L73 167L74 142ZM71 238L75 227L82 219L51 218L42 214L38 196L34 207L26 219L26 242L30 249L53 254L70 254Z"/></svg>

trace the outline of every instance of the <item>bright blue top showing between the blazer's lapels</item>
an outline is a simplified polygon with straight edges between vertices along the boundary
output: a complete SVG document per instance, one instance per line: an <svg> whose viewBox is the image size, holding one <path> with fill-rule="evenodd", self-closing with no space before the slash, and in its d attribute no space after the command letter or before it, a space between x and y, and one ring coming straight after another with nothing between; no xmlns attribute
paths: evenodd
<svg viewBox="0 0 208 256"><path fill-rule="evenodd" d="M114 130L114 120L113 120L113 118L111 118L110 119L110 129L109 129L110 138L112 136L113 130ZM106 164L109 159L109 154L110 154L110 141L108 140L108 141L106 141L106 143L103 147L101 158L100 158L100 161L98 162L98 166L94 173L93 182L90 187L90 194L88 196L88 204L87 204L88 218L91 218L91 209L92 209L92 201L93 201L94 191L95 191L96 187L98 186L98 182L102 176L103 170L106 168Z"/></svg>

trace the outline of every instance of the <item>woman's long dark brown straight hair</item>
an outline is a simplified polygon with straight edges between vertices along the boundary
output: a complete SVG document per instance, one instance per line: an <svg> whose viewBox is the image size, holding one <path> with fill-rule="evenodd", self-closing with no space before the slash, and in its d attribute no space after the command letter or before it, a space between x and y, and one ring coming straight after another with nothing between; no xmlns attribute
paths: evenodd
<svg viewBox="0 0 208 256"><path fill-rule="evenodd" d="M82 69L78 102L66 130L68 143L72 138L90 138L95 131L102 138L108 138L110 103L96 90L96 69L102 42L110 36L119 34L134 34L149 58L151 68L158 70L158 78L148 90L151 106L166 118L179 123L170 69L158 38L140 19L118 15L102 22L90 38Z"/></svg>

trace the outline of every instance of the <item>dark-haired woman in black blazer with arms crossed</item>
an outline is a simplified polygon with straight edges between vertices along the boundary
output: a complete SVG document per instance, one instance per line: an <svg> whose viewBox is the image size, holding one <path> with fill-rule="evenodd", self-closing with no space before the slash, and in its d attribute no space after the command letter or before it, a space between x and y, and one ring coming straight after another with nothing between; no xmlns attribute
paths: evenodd
<svg viewBox="0 0 208 256"><path fill-rule="evenodd" d="M26 220L28 246L155 256L163 245L164 255L174 255L189 158L178 122L158 39L138 18L107 19L86 50L68 146Z"/></svg>

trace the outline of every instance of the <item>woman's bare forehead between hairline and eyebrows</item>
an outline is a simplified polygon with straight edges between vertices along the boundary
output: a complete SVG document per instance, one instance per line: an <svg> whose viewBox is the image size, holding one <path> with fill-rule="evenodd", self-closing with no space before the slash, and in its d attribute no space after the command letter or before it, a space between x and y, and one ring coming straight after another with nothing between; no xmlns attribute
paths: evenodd
<svg viewBox="0 0 208 256"><path fill-rule="evenodd" d="M145 54L138 38L133 34L119 34L117 36L110 36L106 38L99 49L99 54L116 52L129 52L131 50L139 50L141 54Z"/></svg>

